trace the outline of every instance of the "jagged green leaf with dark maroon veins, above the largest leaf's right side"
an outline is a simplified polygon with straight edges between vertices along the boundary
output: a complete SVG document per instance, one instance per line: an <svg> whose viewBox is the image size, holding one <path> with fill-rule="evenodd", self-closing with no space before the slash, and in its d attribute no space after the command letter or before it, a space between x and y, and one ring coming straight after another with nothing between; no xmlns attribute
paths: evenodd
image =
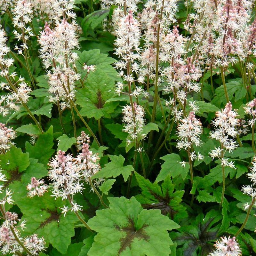
<svg viewBox="0 0 256 256"><path fill-rule="evenodd" d="M135 197L143 208L160 209L162 214L168 215L176 222L188 216L186 208L181 204L184 190L174 192L170 175L165 178L161 187L156 182L152 184L137 172L135 176L142 189L141 195Z"/></svg>

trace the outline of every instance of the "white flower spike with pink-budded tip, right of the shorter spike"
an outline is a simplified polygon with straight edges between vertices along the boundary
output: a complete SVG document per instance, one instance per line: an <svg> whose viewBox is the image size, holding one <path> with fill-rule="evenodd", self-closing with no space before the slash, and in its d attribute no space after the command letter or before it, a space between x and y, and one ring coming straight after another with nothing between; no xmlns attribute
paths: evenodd
<svg viewBox="0 0 256 256"><path fill-rule="evenodd" d="M216 118L212 122L215 130L211 131L209 136L209 138L220 142L220 147L215 148L210 153L212 159L218 157L221 160L221 165L231 168L235 168L234 163L232 161L229 162L227 158L224 158L224 155L227 150L228 152L232 152L238 146L234 139L238 134L236 128L239 124L236 116L237 113L235 110L232 110L232 104L230 102L227 103L222 111L216 112Z"/></svg>

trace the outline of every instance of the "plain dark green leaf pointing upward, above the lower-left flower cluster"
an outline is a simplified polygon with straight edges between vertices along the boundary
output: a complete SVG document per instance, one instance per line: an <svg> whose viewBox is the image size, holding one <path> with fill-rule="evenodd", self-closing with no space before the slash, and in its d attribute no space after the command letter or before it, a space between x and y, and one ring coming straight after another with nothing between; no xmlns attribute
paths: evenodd
<svg viewBox="0 0 256 256"><path fill-rule="evenodd" d="M47 166L49 159L55 152L55 150L52 149L53 145L53 128L51 126L47 132L39 135L34 146L26 141L26 151L29 153L30 157L39 159L40 163Z"/></svg>

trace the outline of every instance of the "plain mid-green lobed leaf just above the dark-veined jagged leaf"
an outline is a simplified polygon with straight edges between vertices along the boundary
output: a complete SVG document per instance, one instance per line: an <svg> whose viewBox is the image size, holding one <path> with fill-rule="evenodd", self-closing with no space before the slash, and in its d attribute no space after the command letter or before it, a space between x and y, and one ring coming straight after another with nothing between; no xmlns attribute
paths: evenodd
<svg viewBox="0 0 256 256"><path fill-rule="evenodd" d="M175 178L181 175L182 179L188 175L189 165L186 163L185 167L182 167L180 163L180 156L177 154L170 154L166 156L160 157L160 159L164 160L164 164L161 165L161 171L156 177L156 182L164 180L168 174L171 175L172 178Z"/></svg>

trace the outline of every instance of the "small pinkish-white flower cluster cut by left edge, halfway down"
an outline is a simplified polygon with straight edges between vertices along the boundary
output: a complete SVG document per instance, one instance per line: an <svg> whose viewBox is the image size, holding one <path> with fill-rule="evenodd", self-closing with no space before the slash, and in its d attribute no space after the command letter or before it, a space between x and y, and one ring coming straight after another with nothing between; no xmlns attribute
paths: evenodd
<svg viewBox="0 0 256 256"><path fill-rule="evenodd" d="M15 137L16 134L12 128L7 128L5 124L0 123L0 154L4 154L12 147L12 140Z"/></svg>

